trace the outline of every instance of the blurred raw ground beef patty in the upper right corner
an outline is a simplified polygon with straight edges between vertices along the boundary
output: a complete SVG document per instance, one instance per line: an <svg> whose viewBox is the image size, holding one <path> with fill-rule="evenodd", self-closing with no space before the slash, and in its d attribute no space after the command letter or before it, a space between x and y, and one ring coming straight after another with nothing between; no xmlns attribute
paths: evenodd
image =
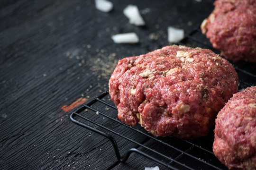
<svg viewBox="0 0 256 170"><path fill-rule="evenodd" d="M227 59L256 62L256 0L216 0L214 5L202 33Z"/></svg>

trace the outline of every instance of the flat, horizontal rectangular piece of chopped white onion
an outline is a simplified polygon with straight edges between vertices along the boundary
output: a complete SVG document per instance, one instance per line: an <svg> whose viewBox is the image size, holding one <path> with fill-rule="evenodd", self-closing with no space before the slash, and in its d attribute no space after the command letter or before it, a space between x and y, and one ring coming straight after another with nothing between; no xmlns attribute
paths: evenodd
<svg viewBox="0 0 256 170"><path fill-rule="evenodd" d="M136 33L124 33L113 35L112 40L115 43L137 43L139 38Z"/></svg>

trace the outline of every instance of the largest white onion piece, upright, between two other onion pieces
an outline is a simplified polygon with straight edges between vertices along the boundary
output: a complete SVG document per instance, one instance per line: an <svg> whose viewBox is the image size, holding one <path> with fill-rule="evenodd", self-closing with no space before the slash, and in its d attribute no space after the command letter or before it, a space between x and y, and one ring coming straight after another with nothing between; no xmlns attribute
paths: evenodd
<svg viewBox="0 0 256 170"><path fill-rule="evenodd" d="M136 5L128 5L126 8L124 8L123 13L126 17L128 17L130 24L134 24L135 26L145 25L145 21L141 17Z"/></svg>

